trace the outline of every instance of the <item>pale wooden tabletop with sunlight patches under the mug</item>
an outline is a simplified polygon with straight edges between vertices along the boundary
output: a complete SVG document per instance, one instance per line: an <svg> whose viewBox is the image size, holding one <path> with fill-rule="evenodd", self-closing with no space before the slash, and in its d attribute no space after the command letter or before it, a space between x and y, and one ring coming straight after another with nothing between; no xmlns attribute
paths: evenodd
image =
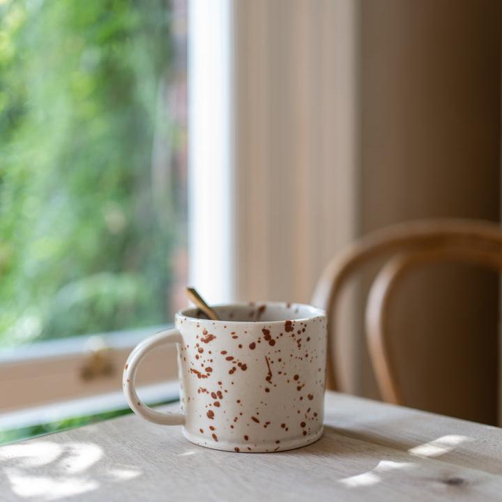
<svg viewBox="0 0 502 502"><path fill-rule="evenodd" d="M0 448L1 501L501 501L502 429L326 395L324 436L273 454L126 416Z"/></svg>

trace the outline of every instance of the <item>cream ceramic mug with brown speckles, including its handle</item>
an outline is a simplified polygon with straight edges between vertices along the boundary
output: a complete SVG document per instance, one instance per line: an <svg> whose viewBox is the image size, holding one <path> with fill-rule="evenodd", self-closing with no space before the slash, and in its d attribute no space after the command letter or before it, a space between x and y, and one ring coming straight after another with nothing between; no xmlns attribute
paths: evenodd
<svg viewBox="0 0 502 502"><path fill-rule="evenodd" d="M192 443L235 452L276 452L317 441L323 433L326 314L296 303L215 307L221 321L198 309L176 314L176 328L140 343L123 386L146 420L183 425ZM160 413L135 391L137 367L155 347L176 343L180 413Z"/></svg>

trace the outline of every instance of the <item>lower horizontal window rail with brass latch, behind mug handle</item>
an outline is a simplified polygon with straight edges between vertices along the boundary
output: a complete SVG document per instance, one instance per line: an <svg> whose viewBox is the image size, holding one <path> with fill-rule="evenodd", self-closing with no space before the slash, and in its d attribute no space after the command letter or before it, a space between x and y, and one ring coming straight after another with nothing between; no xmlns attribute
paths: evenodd
<svg viewBox="0 0 502 502"><path fill-rule="evenodd" d="M3 351L0 356L0 413L121 389L123 366L130 351L145 337L169 327L47 340ZM86 379L82 377L82 370L96 353L92 347L96 344L111 371ZM176 380L177 374L176 347L161 347L147 356L139 371L138 383L144 386Z"/></svg>

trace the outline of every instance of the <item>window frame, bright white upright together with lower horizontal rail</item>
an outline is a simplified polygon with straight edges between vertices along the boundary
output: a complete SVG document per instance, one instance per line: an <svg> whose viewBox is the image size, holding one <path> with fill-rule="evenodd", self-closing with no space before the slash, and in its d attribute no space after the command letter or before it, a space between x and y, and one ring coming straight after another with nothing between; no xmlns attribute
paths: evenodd
<svg viewBox="0 0 502 502"><path fill-rule="evenodd" d="M230 301L234 294L232 4L231 0L188 0L188 274L190 282L214 303ZM218 89L218 99L208 89ZM207 130L211 130L211 141ZM0 351L0 414L13 416L27 409L38 412L44 405L84 402L121 392L123 366L130 351L145 337L169 327L82 335ZM96 340L106 347L113 371L85 380L80 374L92 356L91 342ZM166 395L172 396L177 379L176 347L171 345L146 356L138 385L153 384L158 389L155 384L169 381Z"/></svg>

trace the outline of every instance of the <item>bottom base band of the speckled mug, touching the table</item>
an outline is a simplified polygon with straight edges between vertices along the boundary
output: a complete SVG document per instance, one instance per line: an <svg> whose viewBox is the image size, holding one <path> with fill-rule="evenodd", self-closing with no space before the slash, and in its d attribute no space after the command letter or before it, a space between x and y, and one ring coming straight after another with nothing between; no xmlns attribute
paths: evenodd
<svg viewBox="0 0 502 502"><path fill-rule="evenodd" d="M249 444L249 443L230 443L228 441L211 441L208 438L203 438L201 436L190 434L185 427L183 427L183 436L185 436L190 443L194 443L198 446L204 446L204 448L211 448L211 450L221 450L234 453L277 453L287 450L296 450L296 448L303 448L303 446L308 446L315 443L317 440L321 439L324 433L324 427L321 427L316 434L310 434L310 436L305 436L301 438L294 438L284 443L263 443L259 445Z"/></svg>

